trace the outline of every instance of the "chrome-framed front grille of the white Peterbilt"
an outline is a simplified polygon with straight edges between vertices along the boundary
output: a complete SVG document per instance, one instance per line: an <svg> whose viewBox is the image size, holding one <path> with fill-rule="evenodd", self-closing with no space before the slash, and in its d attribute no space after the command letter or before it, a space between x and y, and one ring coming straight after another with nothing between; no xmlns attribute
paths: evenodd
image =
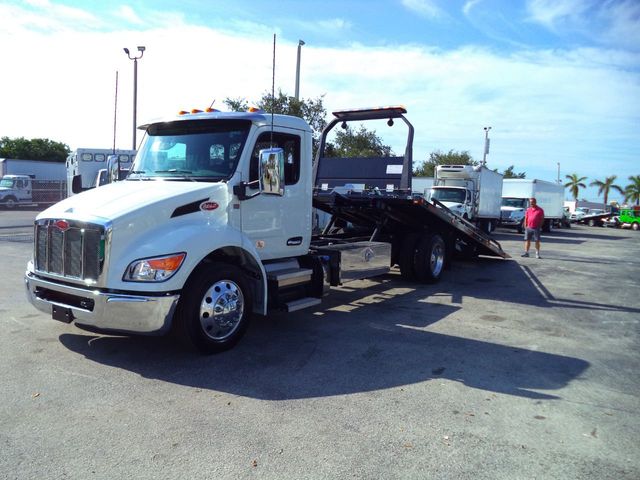
<svg viewBox="0 0 640 480"><path fill-rule="evenodd" d="M104 264L105 228L84 222L40 220L35 232L36 271L62 277L97 280Z"/></svg>

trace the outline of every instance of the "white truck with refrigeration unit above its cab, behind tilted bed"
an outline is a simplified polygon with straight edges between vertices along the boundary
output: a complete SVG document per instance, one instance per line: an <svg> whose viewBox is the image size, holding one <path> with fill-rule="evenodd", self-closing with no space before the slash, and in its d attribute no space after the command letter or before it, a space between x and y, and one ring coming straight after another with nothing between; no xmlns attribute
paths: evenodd
<svg viewBox="0 0 640 480"><path fill-rule="evenodd" d="M484 166L438 165L430 198L485 232L500 220L502 175Z"/></svg>

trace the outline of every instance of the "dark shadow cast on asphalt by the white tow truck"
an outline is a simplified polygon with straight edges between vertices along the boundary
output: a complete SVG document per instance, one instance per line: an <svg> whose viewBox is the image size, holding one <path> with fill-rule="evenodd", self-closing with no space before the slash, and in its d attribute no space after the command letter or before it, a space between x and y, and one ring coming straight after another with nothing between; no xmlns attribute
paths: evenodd
<svg viewBox="0 0 640 480"><path fill-rule="evenodd" d="M460 286L451 282L416 286L399 282L397 274L369 283L332 292L321 308L257 317L234 349L211 357L186 354L170 338L68 333L60 341L89 360L145 378L264 400L348 395L434 380L557 399L552 392L589 367L579 358L431 331L460 310L458 295L471 286L458 293ZM474 320L485 337L512 321L508 314L488 311L477 312Z"/></svg>

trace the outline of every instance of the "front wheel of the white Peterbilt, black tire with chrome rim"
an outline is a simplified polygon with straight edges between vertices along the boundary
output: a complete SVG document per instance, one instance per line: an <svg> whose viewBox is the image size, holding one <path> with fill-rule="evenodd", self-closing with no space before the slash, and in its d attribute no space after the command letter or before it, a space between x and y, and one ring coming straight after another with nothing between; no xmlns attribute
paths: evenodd
<svg viewBox="0 0 640 480"><path fill-rule="evenodd" d="M251 290L238 267L207 264L185 284L174 317L174 331L191 349L206 354L223 352L244 335L252 307Z"/></svg>

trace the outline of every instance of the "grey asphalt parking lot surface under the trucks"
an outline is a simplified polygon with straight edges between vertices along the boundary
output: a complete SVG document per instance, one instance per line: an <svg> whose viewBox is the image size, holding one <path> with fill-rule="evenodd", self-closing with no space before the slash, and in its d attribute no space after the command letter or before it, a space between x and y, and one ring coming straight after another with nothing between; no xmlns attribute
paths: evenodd
<svg viewBox="0 0 640 480"><path fill-rule="evenodd" d="M33 309L11 221L2 478L640 478L640 232L555 231L537 260L501 230L512 260L345 285L207 357Z"/></svg>

